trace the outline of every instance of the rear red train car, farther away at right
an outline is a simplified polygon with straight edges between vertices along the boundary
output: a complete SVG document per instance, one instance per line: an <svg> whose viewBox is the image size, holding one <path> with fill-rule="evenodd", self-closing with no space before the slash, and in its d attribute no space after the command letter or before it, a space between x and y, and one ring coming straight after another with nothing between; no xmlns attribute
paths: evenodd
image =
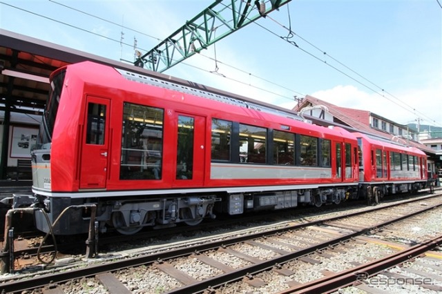
<svg viewBox="0 0 442 294"><path fill-rule="evenodd" d="M427 155L418 148L354 133L359 146L362 197L374 202L384 195L421 190L427 184Z"/></svg>

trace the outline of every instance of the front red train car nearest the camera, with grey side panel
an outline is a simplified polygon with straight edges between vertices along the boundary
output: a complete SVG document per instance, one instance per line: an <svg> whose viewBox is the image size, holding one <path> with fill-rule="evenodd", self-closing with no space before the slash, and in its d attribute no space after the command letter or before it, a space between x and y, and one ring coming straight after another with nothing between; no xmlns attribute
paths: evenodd
<svg viewBox="0 0 442 294"><path fill-rule="evenodd" d="M88 231L90 204L99 231L133 234L357 194L358 142L343 128L89 61L50 84L32 151L41 231Z"/></svg>

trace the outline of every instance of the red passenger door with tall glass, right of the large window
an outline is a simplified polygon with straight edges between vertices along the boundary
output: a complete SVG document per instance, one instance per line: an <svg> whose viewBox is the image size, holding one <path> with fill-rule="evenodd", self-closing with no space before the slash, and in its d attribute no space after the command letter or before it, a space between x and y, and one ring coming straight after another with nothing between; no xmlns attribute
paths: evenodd
<svg viewBox="0 0 442 294"><path fill-rule="evenodd" d="M201 186L203 184L205 136L205 117L177 114L174 186Z"/></svg>

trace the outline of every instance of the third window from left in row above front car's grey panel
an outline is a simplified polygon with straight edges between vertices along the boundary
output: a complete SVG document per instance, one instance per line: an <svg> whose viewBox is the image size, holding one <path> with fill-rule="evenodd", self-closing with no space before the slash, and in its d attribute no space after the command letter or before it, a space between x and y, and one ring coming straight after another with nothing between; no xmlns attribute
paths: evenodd
<svg viewBox="0 0 442 294"><path fill-rule="evenodd" d="M275 130L273 132L273 164L295 164L295 134Z"/></svg>

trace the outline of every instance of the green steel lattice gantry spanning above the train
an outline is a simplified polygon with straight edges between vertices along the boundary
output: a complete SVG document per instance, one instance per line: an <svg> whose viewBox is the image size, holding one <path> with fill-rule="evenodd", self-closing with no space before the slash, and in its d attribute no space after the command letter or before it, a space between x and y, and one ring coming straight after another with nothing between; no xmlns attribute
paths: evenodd
<svg viewBox="0 0 442 294"><path fill-rule="evenodd" d="M291 0L217 0L146 54L137 52L135 66L164 72ZM227 3L229 2L229 3Z"/></svg>

